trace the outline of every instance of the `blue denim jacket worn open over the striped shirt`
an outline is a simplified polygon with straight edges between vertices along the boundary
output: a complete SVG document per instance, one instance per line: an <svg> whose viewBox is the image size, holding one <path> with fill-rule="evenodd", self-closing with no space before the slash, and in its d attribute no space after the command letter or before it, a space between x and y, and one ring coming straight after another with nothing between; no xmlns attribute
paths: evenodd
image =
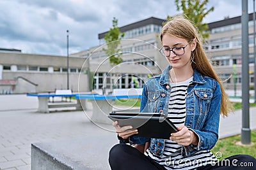
<svg viewBox="0 0 256 170"><path fill-rule="evenodd" d="M169 83L169 69L149 78L143 87L140 112L164 113L168 115L168 103L172 87ZM219 83L198 73L196 69L193 81L186 95L186 120L184 125L198 136L198 145L182 146L182 155L189 156L198 150L210 150L218 140L220 122L221 89ZM150 141L150 151L161 156L164 151L164 139L149 139L131 136L129 142L143 144Z"/></svg>

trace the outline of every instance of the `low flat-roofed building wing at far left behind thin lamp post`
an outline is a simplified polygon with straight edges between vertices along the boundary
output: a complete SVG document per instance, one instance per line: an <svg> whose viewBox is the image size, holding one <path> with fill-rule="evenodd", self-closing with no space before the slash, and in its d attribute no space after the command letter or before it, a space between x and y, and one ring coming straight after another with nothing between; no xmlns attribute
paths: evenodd
<svg viewBox="0 0 256 170"><path fill-rule="evenodd" d="M19 50L0 51L0 94L54 92L67 89L88 91L86 66L81 57L21 53ZM83 67L83 68L82 68ZM79 89L78 89L79 85Z"/></svg>

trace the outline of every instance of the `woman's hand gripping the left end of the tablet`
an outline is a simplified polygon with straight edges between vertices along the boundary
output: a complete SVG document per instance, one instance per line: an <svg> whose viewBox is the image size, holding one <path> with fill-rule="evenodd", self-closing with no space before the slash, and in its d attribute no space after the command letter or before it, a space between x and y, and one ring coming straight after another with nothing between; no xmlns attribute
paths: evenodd
<svg viewBox="0 0 256 170"><path fill-rule="evenodd" d="M133 134L138 134L138 130L132 129L131 125L120 127L120 125L118 125L117 121L113 122L113 127L115 127L116 133L118 134L118 136L120 136L123 139L129 138ZM131 130L129 130L129 129L131 129Z"/></svg>

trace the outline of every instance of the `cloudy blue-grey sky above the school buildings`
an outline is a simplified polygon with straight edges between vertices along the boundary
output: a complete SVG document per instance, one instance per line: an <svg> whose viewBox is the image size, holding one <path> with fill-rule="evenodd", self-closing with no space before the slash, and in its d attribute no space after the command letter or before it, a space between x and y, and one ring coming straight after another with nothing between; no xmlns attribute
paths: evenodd
<svg viewBox="0 0 256 170"><path fill-rule="evenodd" d="M209 0L210 23L241 15L242 0ZM180 13L174 0L0 0L0 48L22 53L67 55L99 45L98 34L109 31L113 17L118 27L149 17ZM248 0L248 13L253 0Z"/></svg>

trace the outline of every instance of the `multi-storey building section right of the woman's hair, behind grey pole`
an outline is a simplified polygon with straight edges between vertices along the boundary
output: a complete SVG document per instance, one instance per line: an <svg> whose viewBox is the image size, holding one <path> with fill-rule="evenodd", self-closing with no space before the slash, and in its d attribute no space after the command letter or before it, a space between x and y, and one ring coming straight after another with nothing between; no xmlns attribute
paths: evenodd
<svg viewBox="0 0 256 170"><path fill-rule="evenodd" d="M222 80L226 80L226 89L241 89L242 67L242 24L241 16L225 18L209 23L210 37L207 39L206 52ZM249 15L249 73L250 87L254 82L254 41L253 14ZM229 78L229 79L228 79Z"/></svg>

